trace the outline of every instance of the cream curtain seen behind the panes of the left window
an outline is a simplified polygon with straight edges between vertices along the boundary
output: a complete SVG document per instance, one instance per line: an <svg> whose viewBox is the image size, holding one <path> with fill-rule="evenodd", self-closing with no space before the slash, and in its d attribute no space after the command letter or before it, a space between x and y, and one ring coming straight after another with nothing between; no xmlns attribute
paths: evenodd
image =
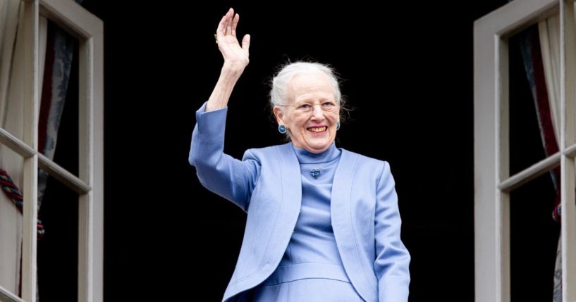
<svg viewBox="0 0 576 302"><path fill-rule="evenodd" d="M0 0L0 127L23 137L23 18L20 0ZM47 20L39 22L39 72L44 71ZM42 83L42 81L40 81ZM29 121L25 121L29 122ZM0 144L0 168L18 187L23 184L23 158ZM0 286L19 294L22 214L0 193Z"/></svg>

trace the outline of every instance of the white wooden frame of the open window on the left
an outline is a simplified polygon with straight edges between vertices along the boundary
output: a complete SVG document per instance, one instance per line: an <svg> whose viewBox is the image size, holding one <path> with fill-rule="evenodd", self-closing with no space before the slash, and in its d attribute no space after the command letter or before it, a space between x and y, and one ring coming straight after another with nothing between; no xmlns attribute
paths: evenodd
<svg viewBox="0 0 576 302"><path fill-rule="evenodd" d="M24 158L22 298L0 287L1 301L36 301L37 173L46 171L78 197L78 301L103 301L104 25L71 0L23 0L25 28L24 136L0 127L0 144ZM78 177L38 151L38 37L43 15L79 43Z"/></svg>

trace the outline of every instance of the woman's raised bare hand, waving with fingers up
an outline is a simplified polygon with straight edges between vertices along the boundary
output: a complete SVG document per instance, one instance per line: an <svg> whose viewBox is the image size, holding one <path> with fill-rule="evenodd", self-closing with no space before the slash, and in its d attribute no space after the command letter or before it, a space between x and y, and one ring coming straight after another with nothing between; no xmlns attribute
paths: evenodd
<svg viewBox="0 0 576 302"><path fill-rule="evenodd" d="M236 27L238 26L240 15L234 14L234 9L230 10L222 17L216 29L216 42L218 49L224 58L224 67L233 70L244 70L248 65L250 48L250 34L246 34L242 39L242 46L236 37Z"/></svg>

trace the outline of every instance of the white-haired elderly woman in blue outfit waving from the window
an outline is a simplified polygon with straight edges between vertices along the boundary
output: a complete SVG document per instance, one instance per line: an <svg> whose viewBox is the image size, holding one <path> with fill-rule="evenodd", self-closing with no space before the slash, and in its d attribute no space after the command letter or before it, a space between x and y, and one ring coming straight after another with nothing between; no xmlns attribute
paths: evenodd
<svg viewBox="0 0 576 302"><path fill-rule="evenodd" d="M336 148L341 94L331 68L291 63L271 105L290 142L223 153L227 103L248 64L230 9L216 30L224 58L214 92L196 113L190 164L204 187L247 212L240 256L223 301L408 300L410 255L388 163Z"/></svg>

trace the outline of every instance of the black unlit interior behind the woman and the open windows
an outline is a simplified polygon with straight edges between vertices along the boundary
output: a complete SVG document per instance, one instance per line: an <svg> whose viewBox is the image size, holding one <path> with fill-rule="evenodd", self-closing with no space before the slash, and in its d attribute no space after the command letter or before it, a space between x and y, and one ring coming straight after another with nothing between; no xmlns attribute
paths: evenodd
<svg viewBox="0 0 576 302"><path fill-rule="evenodd" d="M472 28L505 2L221 1L200 8L86 0L105 29L105 300L219 301L231 277L245 214L204 189L187 158L194 113L221 68L213 34L232 6L240 13L238 34L250 33L252 43L250 65L229 103L226 152L240 157L245 149L282 143L266 98L279 64L313 59L333 65L355 108L337 146L388 161L396 179L402 237L412 255L410 301L473 301ZM510 61L520 70L519 95L529 97L520 58ZM520 117L511 130L529 133L513 148L525 161L537 161L542 151L532 103L510 107ZM66 158L61 140L56 156ZM513 267L520 269L513 287L520 293L546 283L529 292L530 301L551 300L550 261L539 268L530 259L550 257L552 249L548 244L530 254L525 247L537 244L531 240L538 223L554 225L548 222L550 203L526 213L519 206L515 211L514 201L551 190L513 196L513 232L521 235L513 234L513 257L519 259ZM77 208L66 208L74 217ZM49 214L54 209L42 206L47 234L53 234L44 246L57 242L59 251L44 247L47 260L39 266L57 263L54 269L68 273L58 280L41 275L41 298L56 301L51 294L62 292L42 284L59 282L68 284L73 300L77 232L56 241L54 229L74 229L77 222L56 221ZM532 220L534 213L541 217ZM539 238L553 241L549 232Z"/></svg>

